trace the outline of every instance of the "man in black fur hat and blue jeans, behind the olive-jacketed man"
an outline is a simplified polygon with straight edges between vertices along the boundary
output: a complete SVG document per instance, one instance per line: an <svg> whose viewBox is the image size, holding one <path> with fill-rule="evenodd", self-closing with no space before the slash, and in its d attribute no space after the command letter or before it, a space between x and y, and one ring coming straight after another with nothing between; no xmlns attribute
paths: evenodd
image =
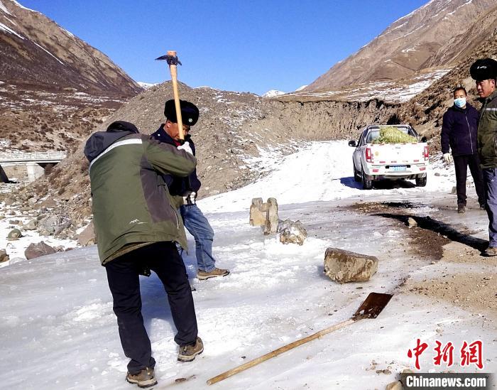
<svg viewBox="0 0 497 390"><path fill-rule="evenodd" d="M197 123L199 109L195 104L185 100L180 100L180 107L183 131L186 134L185 146L190 146L195 156L195 144L188 133L191 126ZM160 142L178 146L180 145L180 135L173 99L165 102L164 115L166 118L165 124L161 124L159 129L151 134L151 137ZM195 239L195 254L198 266L197 278L204 280L228 275L229 271L227 269L218 269L215 265L216 260L212 256L214 230L212 230L209 221L196 204L197 194L200 190L200 185L202 185L197 178L197 170L194 170L187 178L168 175L164 177L164 180L168 185L170 194L180 200L177 206L180 208L183 223Z"/></svg>

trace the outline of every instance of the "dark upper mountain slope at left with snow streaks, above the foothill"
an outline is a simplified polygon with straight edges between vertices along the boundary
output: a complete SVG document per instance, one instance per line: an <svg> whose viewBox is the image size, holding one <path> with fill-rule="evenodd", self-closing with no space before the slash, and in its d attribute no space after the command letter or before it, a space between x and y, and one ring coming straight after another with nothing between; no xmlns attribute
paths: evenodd
<svg viewBox="0 0 497 390"><path fill-rule="evenodd" d="M0 80L44 91L131 97L141 87L99 50L17 1L0 1Z"/></svg>

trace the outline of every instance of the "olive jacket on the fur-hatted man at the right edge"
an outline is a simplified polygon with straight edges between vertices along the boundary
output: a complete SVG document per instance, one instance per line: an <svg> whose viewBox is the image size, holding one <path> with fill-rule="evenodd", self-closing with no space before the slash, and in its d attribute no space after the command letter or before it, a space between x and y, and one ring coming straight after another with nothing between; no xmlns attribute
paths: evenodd
<svg viewBox="0 0 497 390"><path fill-rule="evenodd" d="M497 90L484 100L481 107L478 151L481 168L497 168Z"/></svg>

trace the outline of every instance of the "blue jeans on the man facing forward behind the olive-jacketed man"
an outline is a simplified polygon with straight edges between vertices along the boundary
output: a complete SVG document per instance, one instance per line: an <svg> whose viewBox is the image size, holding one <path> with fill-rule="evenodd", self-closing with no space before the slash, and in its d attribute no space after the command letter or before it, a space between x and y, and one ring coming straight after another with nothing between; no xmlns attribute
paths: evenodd
<svg viewBox="0 0 497 390"><path fill-rule="evenodd" d="M195 254L200 271L210 272L216 268L216 260L212 257L212 242L214 230L209 221L197 205L183 205L180 207L183 224L195 239Z"/></svg>

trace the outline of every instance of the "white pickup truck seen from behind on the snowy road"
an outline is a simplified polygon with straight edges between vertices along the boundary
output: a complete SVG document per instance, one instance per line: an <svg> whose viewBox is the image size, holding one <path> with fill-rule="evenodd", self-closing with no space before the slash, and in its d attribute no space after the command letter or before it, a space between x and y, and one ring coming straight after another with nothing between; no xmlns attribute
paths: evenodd
<svg viewBox="0 0 497 390"><path fill-rule="evenodd" d="M419 136L408 124L395 126L405 134ZM373 188L373 181L381 179L415 179L418 187L426 185L429 151L426 138L413 143L373 143L380 136L382 125L366 126L359 141L349 141L356 150L352 155L354 179L362 181L364 190Z"/></svg>

